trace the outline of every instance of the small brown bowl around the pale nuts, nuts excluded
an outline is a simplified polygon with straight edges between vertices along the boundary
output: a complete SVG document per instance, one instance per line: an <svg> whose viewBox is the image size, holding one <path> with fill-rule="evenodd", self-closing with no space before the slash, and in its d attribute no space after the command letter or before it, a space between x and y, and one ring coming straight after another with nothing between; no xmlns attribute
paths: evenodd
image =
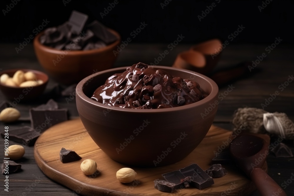
<svg viewBox="0 0 294 196"><path fill-rule="evenodd" d="M48 76L41 71L32 69L9 69L1 71L1 75L7 73L10 77L12 77L13 74L18 70L22 70L23 72L32 71L36 74L37 80L42 80L44 83L33 87L13 87L0 83L0 89L2 93L8 99L16 101L17 103L22 101L32 101L41 96L48 83Z"/></svg>

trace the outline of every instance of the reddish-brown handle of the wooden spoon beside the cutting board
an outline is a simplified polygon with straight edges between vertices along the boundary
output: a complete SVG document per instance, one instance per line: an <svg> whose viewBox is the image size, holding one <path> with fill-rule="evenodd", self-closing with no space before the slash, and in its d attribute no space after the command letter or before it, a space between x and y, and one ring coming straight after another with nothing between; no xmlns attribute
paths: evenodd
<svg viewBox="0 0 294 196"><path fill-rule="evenodd" d="M287 196L284 190L260 168L253 169L250 178L263 196Z"/></svg>

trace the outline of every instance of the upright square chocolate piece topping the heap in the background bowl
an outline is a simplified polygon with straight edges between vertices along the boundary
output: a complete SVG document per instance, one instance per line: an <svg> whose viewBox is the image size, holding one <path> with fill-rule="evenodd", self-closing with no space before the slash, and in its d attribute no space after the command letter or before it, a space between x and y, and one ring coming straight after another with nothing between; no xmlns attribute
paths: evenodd
<svg viewBox="0 0 294 196"><path fill-rule="evenodd" d="M86 21L88 20L88 15L82 14L78 11L72 11L71 16L69 17L69 24L71 25L71 31L75 34L79 34L82 29L84 28L84 25Z"/></svg>

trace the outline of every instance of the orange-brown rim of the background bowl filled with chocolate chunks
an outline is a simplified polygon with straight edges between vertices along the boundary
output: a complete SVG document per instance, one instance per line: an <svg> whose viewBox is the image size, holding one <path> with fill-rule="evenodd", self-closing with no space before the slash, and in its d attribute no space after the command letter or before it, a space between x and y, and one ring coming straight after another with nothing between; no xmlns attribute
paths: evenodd
<svg viewBox="0 0 294 196"><path fill-rule="evenodd" d="M93 54L93 53L97 53L97 52L101 52L101 51L107 51L107 50L110 50L111 48L117 46L121 42L121 36L117 31L114 31L113 29L110 29L110 28L107 28L107 29L109 31L111 31L111 33L113 33L118 39L115 42L113 42L109 45L106 45L103 48L97 48L97 49L91 49L91 50L74 50L74 51L69 50L68 51L68 50L59 50L56 48L45 46L44 44L41 44L39 41L39 37L44 34L44 31L41 31L40 33L38 33L38 35L36 35L36 37L33 40L33 45L34 45L34 47L37 47L38 49L41 49L42 51L46 51L46 52L54 53L54 54L60 54L63 51L67 51L67 55L68 54L70 54L70 55L77 55L77 54L86 55L86 54Z"/></svg>

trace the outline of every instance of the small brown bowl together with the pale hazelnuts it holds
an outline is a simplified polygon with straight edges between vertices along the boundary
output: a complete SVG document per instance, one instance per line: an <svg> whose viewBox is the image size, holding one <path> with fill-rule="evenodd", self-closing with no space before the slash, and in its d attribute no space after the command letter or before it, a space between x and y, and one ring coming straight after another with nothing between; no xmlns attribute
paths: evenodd
<svg viewBox="0 0 294 196"><path fill-rule="evenodd" d="M0 72L0 90L17 103L38 98L44 92L48 76L32 69L9 69Z"/></svg>

